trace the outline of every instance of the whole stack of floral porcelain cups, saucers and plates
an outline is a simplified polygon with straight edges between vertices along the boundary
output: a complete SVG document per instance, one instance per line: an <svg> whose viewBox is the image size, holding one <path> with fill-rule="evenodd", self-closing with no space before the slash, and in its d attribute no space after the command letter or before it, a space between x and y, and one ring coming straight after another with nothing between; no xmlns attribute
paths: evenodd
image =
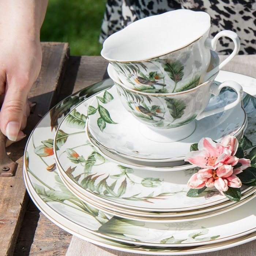
<svg viewBox="0 0 256 256"><path fill-rule="evenodd" d="M243 186L240 202L214 188L187 196L198 170L184 161L191 144L229 134L256 144L256 99L242 90L248 77L225 82L232 75L219 71L239 39L231 31L210 39L209 29L207 14L178 10L139 20L104 42L111 79L64 99L27 142L26 187L46 217L84 240L150 255L209 252L256 238L255 187ZM235 46L219 63L221 36ZM138 87L136 79L152 83Z"/></svg>

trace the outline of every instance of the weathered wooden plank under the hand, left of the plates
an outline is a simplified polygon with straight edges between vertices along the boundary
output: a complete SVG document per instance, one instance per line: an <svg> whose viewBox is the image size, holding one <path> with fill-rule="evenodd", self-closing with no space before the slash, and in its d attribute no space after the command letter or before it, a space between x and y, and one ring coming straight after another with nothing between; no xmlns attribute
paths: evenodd
<svg viewBox="0 0 256 256"><path fill-rule="evenodd" d="M68 44L64 43L42 43L42 51L41 72L29 94L30 100L37 102L37 106L28 118L25 129L27 135L50 106L56 103L65 63L69 56ZM10 157L18 162L18 169L14 177L0 177L0 255L13 254L27 206L28 197L22 174L25 144L24 139L8 147Z"/></svg>

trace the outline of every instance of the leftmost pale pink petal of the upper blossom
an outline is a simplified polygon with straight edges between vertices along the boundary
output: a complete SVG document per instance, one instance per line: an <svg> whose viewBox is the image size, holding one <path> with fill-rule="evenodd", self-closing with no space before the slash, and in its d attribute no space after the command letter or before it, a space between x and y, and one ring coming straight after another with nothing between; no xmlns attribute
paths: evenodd
<svg viewBox="0 0 256 256"><path fill-rule="evenodd" d="M191 151L185 157L185 161L201 168L214 169L214 167L207 164L208 157L209 153L206 150Z"/></svg>

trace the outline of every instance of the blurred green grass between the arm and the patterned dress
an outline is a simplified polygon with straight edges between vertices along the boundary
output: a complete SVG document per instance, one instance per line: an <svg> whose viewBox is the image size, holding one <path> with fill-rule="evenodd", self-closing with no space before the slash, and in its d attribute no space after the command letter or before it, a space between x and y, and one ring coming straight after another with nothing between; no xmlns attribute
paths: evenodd
<svg viewBox="0 0 256 256"><path fill-rule="evenodd" d="M68 42L71 55L100 55L106 0L49 0L41 41Z"/></svg>

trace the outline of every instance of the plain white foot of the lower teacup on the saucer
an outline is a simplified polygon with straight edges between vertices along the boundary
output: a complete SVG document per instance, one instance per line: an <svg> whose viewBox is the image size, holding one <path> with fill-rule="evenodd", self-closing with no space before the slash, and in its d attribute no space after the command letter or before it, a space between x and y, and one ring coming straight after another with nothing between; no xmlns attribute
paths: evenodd
<svg viewBox="0 0 256 256"><path fill-rule="evenodd" d="M195 120L189 124L170 129L154 129L147 125L140 124L142 136L155 142L176 142L190 136L196 129Z"/></svg>

